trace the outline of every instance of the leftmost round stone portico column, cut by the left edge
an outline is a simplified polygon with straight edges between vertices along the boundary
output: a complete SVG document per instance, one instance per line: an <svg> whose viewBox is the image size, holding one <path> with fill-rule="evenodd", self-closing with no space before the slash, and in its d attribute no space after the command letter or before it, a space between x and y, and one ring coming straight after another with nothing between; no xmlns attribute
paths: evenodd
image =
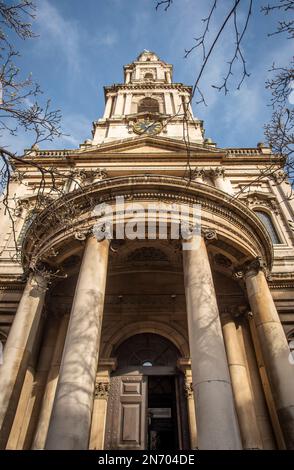
<svg viewBox="0 0 294 470"><path fill-rule="evenodd" d="M4 349L0 366L0 448L6 446L18 399L31 358L47 281L41 274L30 274Z"/></svg>

